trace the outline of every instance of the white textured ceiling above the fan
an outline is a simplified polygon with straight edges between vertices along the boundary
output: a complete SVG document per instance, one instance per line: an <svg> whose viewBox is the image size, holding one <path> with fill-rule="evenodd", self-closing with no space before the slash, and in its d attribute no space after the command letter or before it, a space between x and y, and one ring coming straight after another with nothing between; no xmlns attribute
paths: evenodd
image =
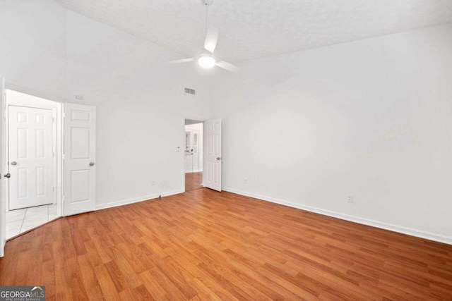
<svg viewBox="0 0 452 301"><path fill-rule="evenodd" d="M201 0L57 0L181 57L199 54ZM452 23L451 0L214 0L215 56L231 63ZM452 34L452 33L451 33Z"/></svg>

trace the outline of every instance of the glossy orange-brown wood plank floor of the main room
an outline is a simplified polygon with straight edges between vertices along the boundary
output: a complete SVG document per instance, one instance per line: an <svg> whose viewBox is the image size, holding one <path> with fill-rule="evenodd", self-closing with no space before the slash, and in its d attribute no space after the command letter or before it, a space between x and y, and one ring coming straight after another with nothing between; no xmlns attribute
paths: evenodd
<svg viewBox="0 0 452 301"><path fill-rule="evenodd" d="M452 246L206 188L6 243L47 300L452 300Z"/></svg>

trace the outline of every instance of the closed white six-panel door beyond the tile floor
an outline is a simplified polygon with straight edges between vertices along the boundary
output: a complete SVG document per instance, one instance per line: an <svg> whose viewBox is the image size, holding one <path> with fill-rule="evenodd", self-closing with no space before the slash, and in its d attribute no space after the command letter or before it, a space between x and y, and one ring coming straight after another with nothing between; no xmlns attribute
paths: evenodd
<svg viewBox="0 0 452 301"><path fill-rule="evenodd" d="M52 110L8 106L9 210L52 204Z"/></svg>

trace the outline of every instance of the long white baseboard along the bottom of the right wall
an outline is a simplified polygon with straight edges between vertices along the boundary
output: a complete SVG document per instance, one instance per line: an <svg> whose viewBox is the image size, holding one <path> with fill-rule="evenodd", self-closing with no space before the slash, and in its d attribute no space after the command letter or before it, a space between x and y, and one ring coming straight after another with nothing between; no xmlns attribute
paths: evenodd
<svg viewBox="0 0 452 301"><path fill-rule="evenodd" d="M394 231L394 232L398 232L398 233L412 235L412 236L416 236L418 238L425 238L427 240L434 240L436 242L444 242L448 245L452 245L452 238L445 236L445 235L439 235L439 234L430 233L430 232L426 232L426 231L420 231L420 230L407 228L407 227L403 227L403 226L397 226L397 225L393 225L391 223L382 223L381 221L373 221L371 219L363 219L363 218L357 217L357 216L351 216L348 214L342 214L342 213L338 213L335 211L329 211L329 210L325 210L325 209L319 209L316 207L305 206L302 204L295 204L292 202L283 201L282 199L275 199L274 197L266 197L263 195L256 195L254 193L244 192L241 190L235 190L232 188L222 188L222 190L236 193L237 195L244 195L246 197L254 197L255 199L262 199L263 201L266 201L266 202L273 202L273 203L282 204L282 205L285 205L288 207L294 207L297 209L311 211L311 212L323 214L326 216L332 216L332 217L335 217L338 219L345 219L345 221L362 223L363 225L367 225L367 226L372 226L372 227L376 227L376 228L385 229L388 231Z"/></svg>

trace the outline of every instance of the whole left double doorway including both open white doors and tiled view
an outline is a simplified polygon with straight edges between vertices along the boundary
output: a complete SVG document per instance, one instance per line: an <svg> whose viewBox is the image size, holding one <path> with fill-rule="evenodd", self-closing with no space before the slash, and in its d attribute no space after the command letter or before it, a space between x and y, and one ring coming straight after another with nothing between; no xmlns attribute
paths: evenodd
<svg viewBox="0 0 452 301"><path fill-rule="evenodd" d="M94 211L97 165L95 106L5 89L4 78L0 84L3 257L6 240L60 216Z"/></svg>

